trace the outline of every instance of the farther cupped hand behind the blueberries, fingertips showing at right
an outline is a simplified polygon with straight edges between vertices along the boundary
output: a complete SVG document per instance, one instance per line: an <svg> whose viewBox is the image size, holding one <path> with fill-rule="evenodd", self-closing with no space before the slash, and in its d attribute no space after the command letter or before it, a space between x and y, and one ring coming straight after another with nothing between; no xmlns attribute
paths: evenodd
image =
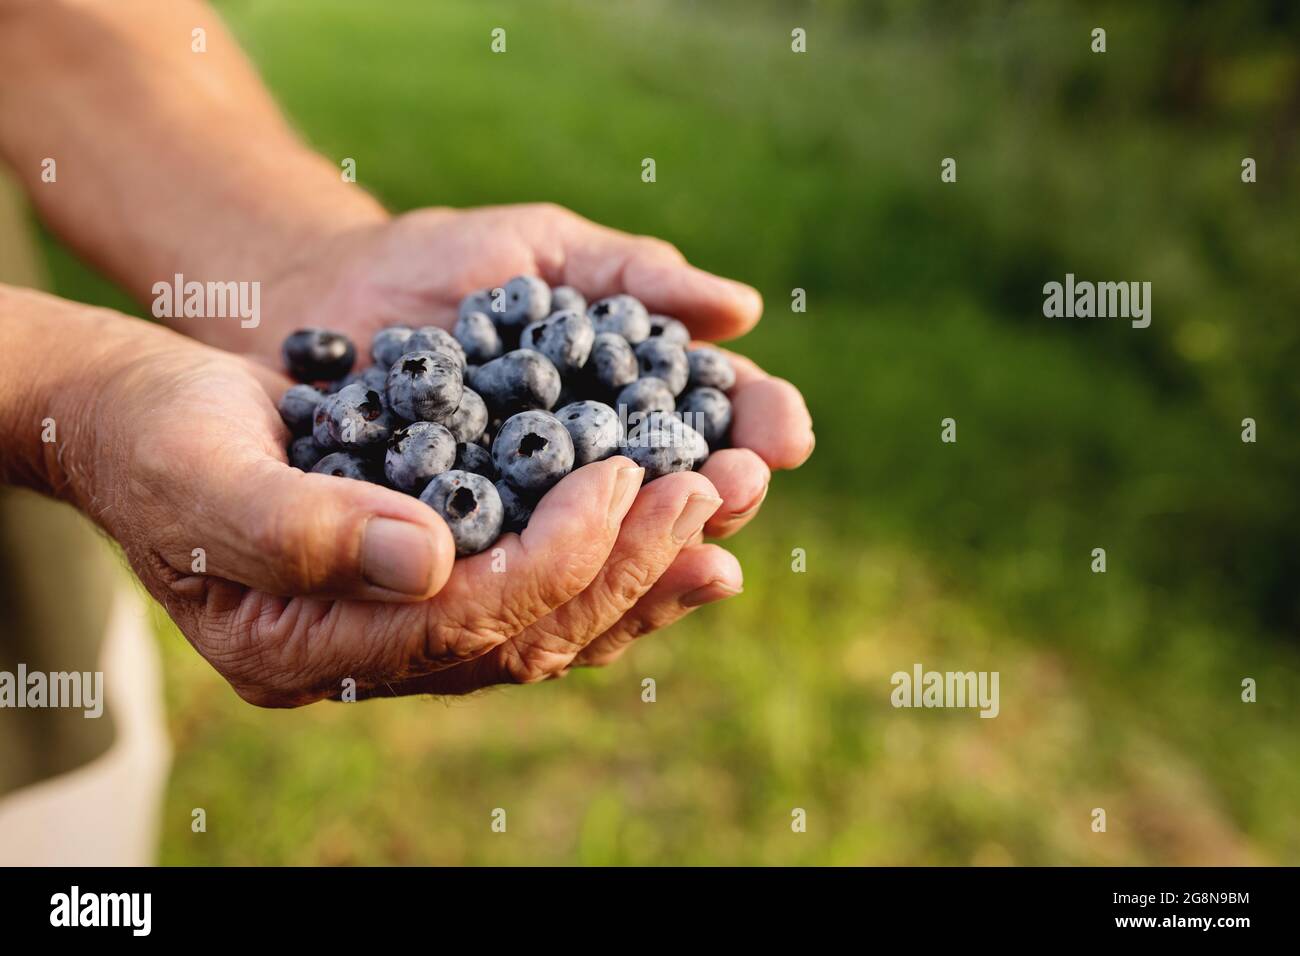
<svg viewBox="0 0 1300 956"><path fill-rule="evenodd" d="M670 243L620 233L556 206L421 209L306 250L266 294L265 330L272 336L264 354L274 360L276 336L300 324L300 316L348 332L363 354L385 325L450 328L465 294L515 274L571 285L589 299L630 293L651 312L676 316L701 339L741 336L762 313L754 289L689 265ZM732 535L751 520L771 471L800 466L814 444L798 390L748 359L732 359L733 447L711 455L701 470L723 499L705 528L711 537ZM658 485L647 485L646 493ZM632 637L727 596L738 587L733 566L719 548L689 548L634 613L576 662L607 662Z"/></svg>

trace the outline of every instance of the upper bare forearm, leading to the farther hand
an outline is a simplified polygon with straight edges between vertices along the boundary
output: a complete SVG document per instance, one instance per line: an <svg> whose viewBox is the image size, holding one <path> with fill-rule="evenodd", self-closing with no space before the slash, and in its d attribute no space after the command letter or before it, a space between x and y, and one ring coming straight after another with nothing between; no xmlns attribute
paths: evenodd
<svg viewBox="0 0 1300 956"><path fill-rule="evenodd" d="M0 155L49 226L143 303L177 273L272 282L295 252L385 219L298 139L196 0L0 0ZM248 342L231 323L183 330Z"/></svg>

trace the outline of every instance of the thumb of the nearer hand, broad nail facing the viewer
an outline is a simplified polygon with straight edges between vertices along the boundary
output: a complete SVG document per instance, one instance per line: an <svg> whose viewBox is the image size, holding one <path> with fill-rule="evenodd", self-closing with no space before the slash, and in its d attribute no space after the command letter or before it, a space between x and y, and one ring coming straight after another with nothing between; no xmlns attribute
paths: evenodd
<svg viewBox="0 0 1300 956"><path fill-rule="evenodd" d="M367 601L419 601L446 584L455 542L417 498L273 458L226 464L190 489L208 575L286 597Z"/></svg>

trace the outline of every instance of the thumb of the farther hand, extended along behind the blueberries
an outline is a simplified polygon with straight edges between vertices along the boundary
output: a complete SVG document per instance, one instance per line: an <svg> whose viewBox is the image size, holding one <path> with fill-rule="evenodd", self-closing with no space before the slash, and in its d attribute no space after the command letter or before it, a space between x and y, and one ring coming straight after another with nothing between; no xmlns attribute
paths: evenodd
<svg viewBox="0 0 1300 956"><path fill-rule="evenodd" d="M744 282L698 269L662 239L628 235L572 216L560 230L563 281L592 297L629 293L651 312L684 321L708 339L754 328L763 298Z"/></svg>

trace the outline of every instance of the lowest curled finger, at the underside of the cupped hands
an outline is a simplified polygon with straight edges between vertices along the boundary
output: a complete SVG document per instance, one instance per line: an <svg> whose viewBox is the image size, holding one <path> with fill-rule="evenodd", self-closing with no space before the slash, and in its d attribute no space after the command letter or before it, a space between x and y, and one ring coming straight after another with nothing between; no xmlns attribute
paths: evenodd
<svg viewBox="0 0 1300 956"><path fill-rule="evenodd" d="M714 601L734 597L745 589L736 557L718 545L697 545L677 555L655 585L604 633L575 659L578 667L612 663L632 643Z"/></svg>

